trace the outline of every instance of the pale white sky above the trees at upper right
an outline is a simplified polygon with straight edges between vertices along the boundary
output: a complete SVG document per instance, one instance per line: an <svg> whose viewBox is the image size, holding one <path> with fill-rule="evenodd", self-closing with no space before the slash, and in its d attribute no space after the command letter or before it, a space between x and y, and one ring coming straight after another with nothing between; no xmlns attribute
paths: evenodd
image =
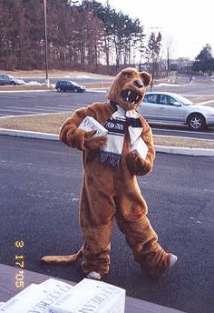
<svg viewBox="0 0 214 313"><path fill-rule="evenodd" d="M162 43L171 40L173 58L194 59L206 44L214 51L213 0L109 0L109 3L131 18L139 18L145 34L160 31Z"/></svg>

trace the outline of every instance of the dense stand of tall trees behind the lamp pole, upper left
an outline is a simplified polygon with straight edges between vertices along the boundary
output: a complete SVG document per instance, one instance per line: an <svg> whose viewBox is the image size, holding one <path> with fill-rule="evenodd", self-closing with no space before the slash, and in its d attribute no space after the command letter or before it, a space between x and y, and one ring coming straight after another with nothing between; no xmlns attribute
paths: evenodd
<svg viewBox="0 0 214 313"><path fill-rule="evenodd" d="M134 64L137 50L142 57L139 19L94 0L46 3L50 68L111 72ZM0 12L0 67L44 68L44 0L0 0Z"/></svg>

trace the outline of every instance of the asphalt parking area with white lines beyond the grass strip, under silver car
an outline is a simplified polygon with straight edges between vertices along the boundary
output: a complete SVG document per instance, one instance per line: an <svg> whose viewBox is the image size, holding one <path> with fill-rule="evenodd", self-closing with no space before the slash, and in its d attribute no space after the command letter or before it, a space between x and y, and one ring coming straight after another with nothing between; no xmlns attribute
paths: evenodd
<svg viewBox="0 0 214 313"><path fill-rule="evenodd" d="M71 112L79 107L87 106L95 101L105 101L105 93L86 92L83 94L48 92L0 93L0 117L24 116L41 113ZM188 131L188 126L151 125L153 133L166 136L191 136L214 139L214 128L206 132Z"/></svg>

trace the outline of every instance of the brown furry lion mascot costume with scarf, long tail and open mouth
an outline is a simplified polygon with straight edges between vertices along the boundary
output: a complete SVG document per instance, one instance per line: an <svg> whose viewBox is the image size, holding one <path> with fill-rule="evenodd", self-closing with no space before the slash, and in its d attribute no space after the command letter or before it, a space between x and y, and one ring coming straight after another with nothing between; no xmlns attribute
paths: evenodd
<svg viewBox="0 0 214 313"><path fill-rule="evenodd" d="M112 82L109 101L80 108L63 123L61 141L83 151L83 247L71 256L43 257L44 262L68 263L83 258L83 273L101 279L109 271L114 217L135 261L151 278L160 278L177 261L176 256L160 247L136 179L151 172L155 157L151 127L137 112L150 84L150 74L131 67L123 69ZM94 131L78 127L86 116L104 126L107 136L94 136ZM145 158L131 152L131 145L139 137L148 146Z"/></svg>

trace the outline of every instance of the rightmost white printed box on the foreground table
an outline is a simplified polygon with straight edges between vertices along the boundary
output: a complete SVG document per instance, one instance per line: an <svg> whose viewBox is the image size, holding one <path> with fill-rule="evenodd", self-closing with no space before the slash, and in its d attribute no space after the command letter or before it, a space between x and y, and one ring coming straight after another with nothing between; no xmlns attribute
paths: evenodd
<svg viewBox="0 0 214 313"><path fill-rule="evenodd" d="M125 290L84 278L51 308L53 313L124 313Z"/></svg>

